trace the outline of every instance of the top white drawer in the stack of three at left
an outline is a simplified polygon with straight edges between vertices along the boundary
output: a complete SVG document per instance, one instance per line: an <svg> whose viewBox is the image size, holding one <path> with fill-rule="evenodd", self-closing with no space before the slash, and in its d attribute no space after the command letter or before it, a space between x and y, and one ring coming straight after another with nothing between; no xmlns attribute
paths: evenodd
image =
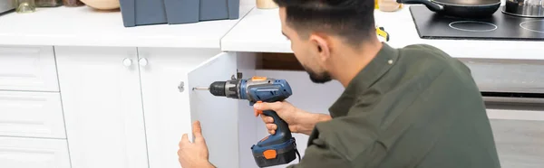
<svg viewBox="0 0 544 168"><path fill-rule="evenodd" d="M53 47L0 46L0 90L59 91Z"/></svg>

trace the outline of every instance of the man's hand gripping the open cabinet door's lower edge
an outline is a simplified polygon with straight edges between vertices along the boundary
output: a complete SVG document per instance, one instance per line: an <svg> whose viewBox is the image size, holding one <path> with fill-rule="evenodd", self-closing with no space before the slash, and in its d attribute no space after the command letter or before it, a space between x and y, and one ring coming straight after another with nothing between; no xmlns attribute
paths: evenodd
<svg viewBox="0 0 544 168"><path fill-rule="evenodd" d="M202 129L200 122L193 123L193 135L195 136L195 142L190 143L187 134L181 137L180 150L178 150L178 156L180 157L180 164L183 168L212 168L214 167L208 161L208 146L202 136Z"/></svg>

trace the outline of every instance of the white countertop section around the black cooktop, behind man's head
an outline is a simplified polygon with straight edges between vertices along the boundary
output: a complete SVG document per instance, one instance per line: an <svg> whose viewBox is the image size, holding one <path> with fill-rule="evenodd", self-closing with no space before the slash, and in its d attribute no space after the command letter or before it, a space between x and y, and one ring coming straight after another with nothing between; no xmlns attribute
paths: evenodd
<svg viewBox="0 0 544 168"><path fill-rule="evenodd" d="M426 43L456 58L544 60L544 41L425 40L416 31L408 5L393 13L376 10L376 24L390 34L388 44L403 47ZM277 9L253 9L222 40L223 51L287 52Z"/></svg>

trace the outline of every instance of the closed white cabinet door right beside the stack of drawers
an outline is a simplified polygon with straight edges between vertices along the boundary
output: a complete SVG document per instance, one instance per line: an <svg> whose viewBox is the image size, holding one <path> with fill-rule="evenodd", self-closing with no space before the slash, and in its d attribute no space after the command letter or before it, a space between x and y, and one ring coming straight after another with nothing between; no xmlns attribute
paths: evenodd
<svg viewBox="0 0 544 168"><path fill-rule="evenodd" d="M136 48L55 48L73 167L147 168Z"/></svg>

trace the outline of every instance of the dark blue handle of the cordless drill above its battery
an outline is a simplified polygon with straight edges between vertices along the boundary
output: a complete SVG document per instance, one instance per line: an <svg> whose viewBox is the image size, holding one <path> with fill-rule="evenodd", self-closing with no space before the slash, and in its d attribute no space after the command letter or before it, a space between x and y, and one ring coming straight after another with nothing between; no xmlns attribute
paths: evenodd
<svg viewBox="0 0 544 168"><path fill-rule="evenodd" d="M289 141L292 137L291 130L287 122L284 121L281 117L277 116L276 111L273 110L264 110L263 115L274 118L274 124L276 124L277 129L274 135L268 135L266 138L261 140L257 145L278 145Z"/></svg>

